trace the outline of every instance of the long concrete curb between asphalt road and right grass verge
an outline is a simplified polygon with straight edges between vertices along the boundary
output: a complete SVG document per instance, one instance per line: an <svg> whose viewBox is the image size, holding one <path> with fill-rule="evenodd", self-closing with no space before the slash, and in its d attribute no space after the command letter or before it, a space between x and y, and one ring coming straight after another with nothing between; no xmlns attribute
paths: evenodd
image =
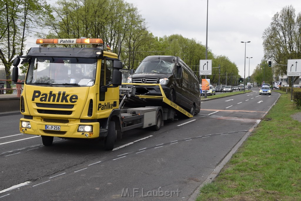
<svg viewBox="0 0 301 201"><path fill-rule="evenodd" d="M238 95L238 94L237 94ZM270 111L270 109L273 107L273 105L276 104L276 102L278 101L279 97L281 96L281 94L278 96L278 98L275 100L275 102L272 104L272 106L270 106L268 108L268 110L260 117L260 119L263 119L264 116L266 114L268 114L268 111ZM252 133L252 131L254 130L254 128L260 123L256 122L249 130L246 134L244 134L244 136L239 140L239 142L231 149L231 151L225 156L224 159L222 159L222 161L216 166L216 168L213 170L213 172L211 172L211 174L209 174L209 176L206 178L205 181L203 181L203 183L197 187L196 190L194 190L194 192L191 194L191 196L189 197L188 201L195 201L197 199L197 197L200 194L200 189L205 185L205 184L209 184L211 183L215 177L220 173L220 171L222 170L222 168L226 165L226 163L231 159L232 155L237 151L237 149L244 143L245 140L247 140L247 138L250 136L250 134Z"/></svg>

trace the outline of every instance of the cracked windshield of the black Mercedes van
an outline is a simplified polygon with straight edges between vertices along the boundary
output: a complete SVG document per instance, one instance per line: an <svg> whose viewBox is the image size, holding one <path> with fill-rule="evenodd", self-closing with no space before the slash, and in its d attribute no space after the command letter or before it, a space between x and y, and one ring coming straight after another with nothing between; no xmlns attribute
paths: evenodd
<svg viewBox="0 0 301 201"><path fill-rule="evenodd" d="M175 64L163 60L142 61L135 73L166 73L171 74Z"/></svg>

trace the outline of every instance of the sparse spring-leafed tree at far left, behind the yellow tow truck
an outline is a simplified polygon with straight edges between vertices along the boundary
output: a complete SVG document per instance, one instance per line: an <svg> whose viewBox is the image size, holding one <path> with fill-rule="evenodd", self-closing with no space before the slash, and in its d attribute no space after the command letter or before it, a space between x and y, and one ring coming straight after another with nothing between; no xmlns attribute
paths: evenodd
<svg viewBox="0 0 301 201"><path fill-rule="evenodd" d="M5 67L6 80L11 79L11 65L16 56L23 55L30 29L48 13L45 0L4 0L0 2L0 64ZM6 82L11 89L11 81ZM7 93L11 93L8 90Z"/></svg>

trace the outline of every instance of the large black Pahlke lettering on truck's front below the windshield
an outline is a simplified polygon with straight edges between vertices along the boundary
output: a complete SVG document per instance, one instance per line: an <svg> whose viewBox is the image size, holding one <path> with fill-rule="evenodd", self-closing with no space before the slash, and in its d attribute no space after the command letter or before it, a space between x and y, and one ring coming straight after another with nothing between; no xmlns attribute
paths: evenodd
<svg viewBox="0 0 301 201"><path fill-rule="evenodd" d="M69 99L68 99L68 96ZM41 91L39 90L34 90L33 91L33 97L31 99L31 101L35 101L36 98L40 98L41 102L70 102L70 103L75 103L78 100L78 96L73 94L67 94L66 92L63 91L63 93L61 91L59 91L57 94L52 94L52 91L49 92L49 94L47 93L41 93Z"/></svg>

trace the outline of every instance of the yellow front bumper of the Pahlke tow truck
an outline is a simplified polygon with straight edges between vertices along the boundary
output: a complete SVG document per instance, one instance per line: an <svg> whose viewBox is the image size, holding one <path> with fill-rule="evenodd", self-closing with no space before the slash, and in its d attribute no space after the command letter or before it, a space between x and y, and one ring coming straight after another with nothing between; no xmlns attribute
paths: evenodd
<svg viewBox="0 0 301 201"><path fill-rule="evenodd" d="M22 127L22 121L30 123L29 127ZM55 123L54 123L55 122ZM79 125L92 126L91 132L78 132ZM60 127L59 130L47 130L47 126L54 126L55 129ZM57 119L57 118L41 118L34 117L32 119L20 119L20 132L33 135L45 135L62 138L85 138L93 139L99 136L99 123L88 122L82 123L79 119Z"/></svg>

